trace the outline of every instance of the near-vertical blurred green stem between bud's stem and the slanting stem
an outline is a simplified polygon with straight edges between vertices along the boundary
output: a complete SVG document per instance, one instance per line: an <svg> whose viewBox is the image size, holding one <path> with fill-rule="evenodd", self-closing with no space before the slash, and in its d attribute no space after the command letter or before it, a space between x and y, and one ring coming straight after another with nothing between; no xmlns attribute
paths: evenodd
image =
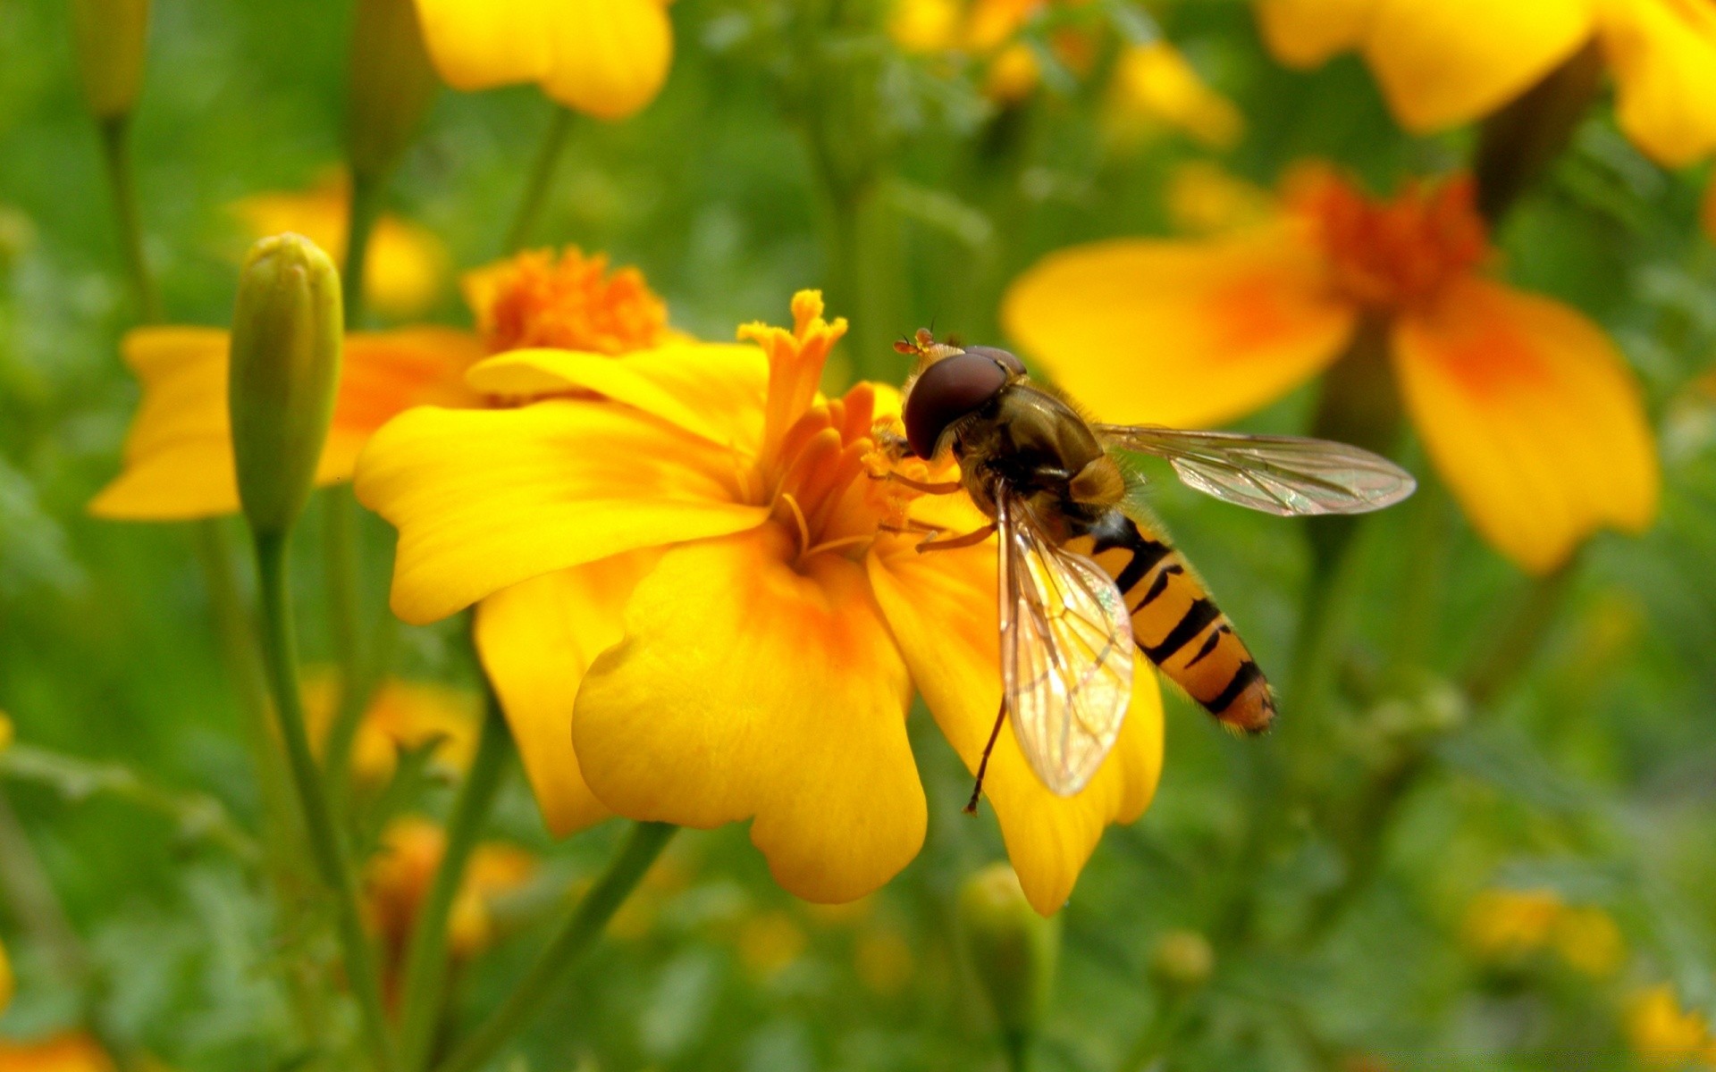
<svg viewBox="0 0 1716 1072"><path fill-rule="evenodd" d="M407 1072L415 1072L429 1063L434 1029L441 1019L441 995L446 986L446 921L453 911L460 882L465 878L465 864L477 846L477 835L482 832L489 808L494 804L494 792L506 765L506 719L501 715L494 693L489 691L477 755L465 774L465 784L460 787L453 815L446 823L446 852L441 856L434 883L417 912L410 952L405 957L400 1051Z"/></svg>

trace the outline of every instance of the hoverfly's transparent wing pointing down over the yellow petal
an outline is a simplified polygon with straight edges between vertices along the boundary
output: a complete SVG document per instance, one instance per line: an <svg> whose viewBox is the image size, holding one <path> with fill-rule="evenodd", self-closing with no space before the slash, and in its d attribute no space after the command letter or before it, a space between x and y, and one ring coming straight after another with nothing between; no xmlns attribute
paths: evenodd
<svg viewBox="0 0 1716 1072"><path fill-rule="evenodd" d="M1006 487L1000 530L1000 672L1031 770L1072 796L1114 748L1133 698L1133 624L1097 563L1057 547Z"/></svg>

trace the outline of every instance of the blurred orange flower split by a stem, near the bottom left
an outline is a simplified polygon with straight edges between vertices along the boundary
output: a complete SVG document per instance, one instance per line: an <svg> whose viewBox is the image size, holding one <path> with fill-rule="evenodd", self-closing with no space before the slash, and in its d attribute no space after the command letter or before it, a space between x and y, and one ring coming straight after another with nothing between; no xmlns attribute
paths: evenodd
<svg viewBox="0 0 1716 1072"><path fill-rule="evenodd" d="M422 816L388 823L369 863L364 894L369 921L381 936L384 974L398 981L417 914L446 854L446 832ZM465 878L448 914L448 949L468 959L494 940L489 902L517 890L535 873L535 856L517 846L486 842L472 849ZM390 986L391 991L391 986Z"/></svg>

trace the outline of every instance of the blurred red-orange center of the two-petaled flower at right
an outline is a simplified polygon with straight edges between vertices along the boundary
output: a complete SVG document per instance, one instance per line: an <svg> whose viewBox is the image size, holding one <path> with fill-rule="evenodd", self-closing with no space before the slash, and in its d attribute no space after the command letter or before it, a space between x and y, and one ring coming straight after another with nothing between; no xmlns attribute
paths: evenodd
<svg viewBox="0 0 1716 1072"><path fill-rule="evenodd" d="M1471 177L1460 175L1376 201L1320 168L1289 182L1287 204L1311 223L1342 295L1400 310L1435 300L1489 256L1474 194Z"/></svg>

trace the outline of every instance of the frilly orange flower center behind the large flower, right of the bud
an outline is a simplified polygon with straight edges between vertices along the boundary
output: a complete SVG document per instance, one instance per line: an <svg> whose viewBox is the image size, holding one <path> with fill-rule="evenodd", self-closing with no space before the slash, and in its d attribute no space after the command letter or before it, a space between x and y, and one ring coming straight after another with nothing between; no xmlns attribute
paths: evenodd
<svg viewBox="0 0 1716 1072"><path fill-rule="evenodd" d="M635 268L578 249L530 250L467 280L489 350L529 346L626 353L668 341L668 305Z"/></svg>

